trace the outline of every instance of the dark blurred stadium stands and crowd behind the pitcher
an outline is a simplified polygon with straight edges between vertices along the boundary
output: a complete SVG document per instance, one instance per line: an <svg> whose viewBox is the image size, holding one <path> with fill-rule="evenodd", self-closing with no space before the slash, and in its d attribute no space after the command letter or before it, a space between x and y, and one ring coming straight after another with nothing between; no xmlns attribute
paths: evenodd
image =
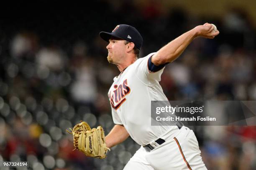
<svg viewBox="0 0 256 170"><path fill-rule="evenodd" d="M79 120L106 133L113 127L107 94L119 73L98 33L121 23L141 32L141 57L196 25L214 23L218 37L197 38L166 66L164 93L169 100L256 100L255 7L254 0L1 6L0 161L29 162L19 170L123 169L139 148L131 138L99 160L72 151L65 132ZM193 128L209 170L256 169L256 127Z"/></svg>

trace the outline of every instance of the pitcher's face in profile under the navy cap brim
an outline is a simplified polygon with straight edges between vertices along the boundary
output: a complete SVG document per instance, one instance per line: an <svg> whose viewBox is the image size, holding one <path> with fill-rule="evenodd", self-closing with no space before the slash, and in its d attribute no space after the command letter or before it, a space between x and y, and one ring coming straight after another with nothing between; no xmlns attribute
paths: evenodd
<svg viewBox="0 0 256 170"><path fill-rule="evenodd" d="M111 37L106 48L108 49L108 62L113 64L121 63L125 56L125 40Z"/></svg>

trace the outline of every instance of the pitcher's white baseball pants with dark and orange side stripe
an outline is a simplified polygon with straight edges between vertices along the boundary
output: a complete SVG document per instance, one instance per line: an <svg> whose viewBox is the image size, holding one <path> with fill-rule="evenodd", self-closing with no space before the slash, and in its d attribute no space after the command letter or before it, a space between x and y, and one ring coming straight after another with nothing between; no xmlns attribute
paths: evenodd
<svg viewBox="0 0 256 170"><path fill-rule="evenodd" d="M124 170L207 170L200 154L195 133L183 126L151 152L141 146Z"/></svg>

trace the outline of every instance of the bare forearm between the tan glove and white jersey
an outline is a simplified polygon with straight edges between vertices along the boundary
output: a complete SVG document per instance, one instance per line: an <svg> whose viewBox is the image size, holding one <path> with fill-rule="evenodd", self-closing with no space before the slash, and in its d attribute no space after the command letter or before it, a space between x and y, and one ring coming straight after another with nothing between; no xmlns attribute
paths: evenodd
<svg viewBox="0 0 256 170"><path fill-rule="evenodd" d="M106 136L107 147L113 147L125 141L130 135L123 125L116 124Z"/></svg>

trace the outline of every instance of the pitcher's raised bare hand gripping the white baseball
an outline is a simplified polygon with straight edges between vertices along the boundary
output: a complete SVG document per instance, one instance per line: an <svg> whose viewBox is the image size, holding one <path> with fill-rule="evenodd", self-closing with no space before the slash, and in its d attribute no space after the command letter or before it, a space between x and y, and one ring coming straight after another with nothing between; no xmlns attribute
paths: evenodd
<svg viewBox="0 0 256 170"><path fill-rule="evenodd" d="M204 25L198 25L194 29L196 31L197 37L204 37L209 39L213 39L215 36L217 36L220 33L219 30L215 32L214 26L209 23L205 23Z"/></svg>

